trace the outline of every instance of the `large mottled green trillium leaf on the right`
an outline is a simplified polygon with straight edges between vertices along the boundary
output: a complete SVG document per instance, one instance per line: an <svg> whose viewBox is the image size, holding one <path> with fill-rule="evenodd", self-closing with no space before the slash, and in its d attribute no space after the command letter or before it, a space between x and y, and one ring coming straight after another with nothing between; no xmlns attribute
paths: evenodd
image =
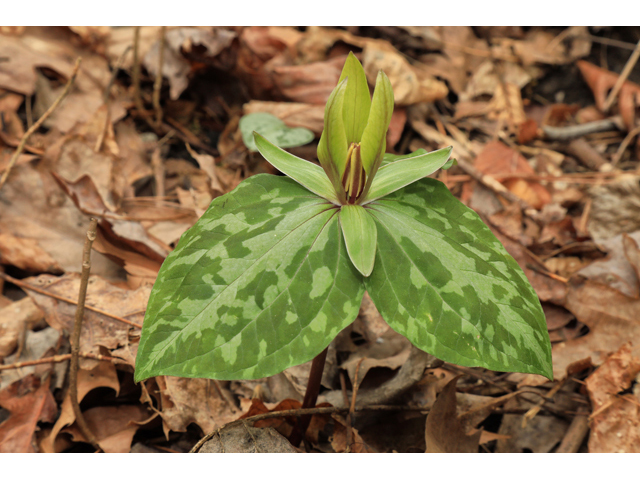
<svg viewBox="0 0 640 480"><path fill-rule="evenodd" d="M447 362L552 378L538 297L475 212L430 178L368 211L378 251L365 285L394 330Z"/></svg>

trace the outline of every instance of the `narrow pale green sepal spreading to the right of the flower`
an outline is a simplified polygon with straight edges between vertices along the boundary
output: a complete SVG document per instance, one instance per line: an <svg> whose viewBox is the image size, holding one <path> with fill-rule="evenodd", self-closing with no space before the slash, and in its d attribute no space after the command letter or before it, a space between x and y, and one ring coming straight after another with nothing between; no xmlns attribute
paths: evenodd
<svg viewBox="0 0 640 480"><path fill-rule="evenodd" d="M447 163L452 148L442 148L417 157L408 157L380 168L371 183L371 189L362 200L362 204L389 195L427 175L431 175Z"/></svg>

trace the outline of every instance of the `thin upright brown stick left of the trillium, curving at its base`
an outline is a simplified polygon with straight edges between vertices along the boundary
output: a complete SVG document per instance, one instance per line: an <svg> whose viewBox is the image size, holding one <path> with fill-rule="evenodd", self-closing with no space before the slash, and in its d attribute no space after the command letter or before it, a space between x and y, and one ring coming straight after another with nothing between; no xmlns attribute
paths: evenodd
<svg viewBox="0 0 640 480"><path fill-rule="evenodd" d="M78 308L76 308L76 318L73 324L73 334L71 335L71 362L69 366L69 398L73 413L76 415L76 422L85 438L95 448L100 448L98 440L93 435L80 410L78 403L78 360L80 353L80 332L82 331L82 318L84 316L84 301L87 297L87 286L89 285L89 273L91 272L91 245L96 239L96 229L98 219L92 218L87 231L87 238L82 251L82 277L80 280L80 292L78 293Z"/></svg>

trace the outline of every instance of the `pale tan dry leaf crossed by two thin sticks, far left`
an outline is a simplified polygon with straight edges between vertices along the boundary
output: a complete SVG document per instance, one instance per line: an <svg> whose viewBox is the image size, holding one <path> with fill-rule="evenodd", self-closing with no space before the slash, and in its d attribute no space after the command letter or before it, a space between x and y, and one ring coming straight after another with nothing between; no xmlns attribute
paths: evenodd
<svg viewBox="0 0 640 480"><path fill-rule="evenodd" d="M40 275L25 281L74 302L78 299L80 288L78 274L66 274L62 277ZM87 288L86 304L141 325L150 292L151 287L148 285L137 290L124 290L100 277L92 276ZM28 291L28 294L45 312L49 325L61 332L73 330L75 305L34 291ZM132 328L130 325L111 317L85 310L80 351L99 354L101 346L110 350L126 346L129 343L130 328ZM96 360L80 359L80 365L83 367L93 366L96 362Z"/></svg>

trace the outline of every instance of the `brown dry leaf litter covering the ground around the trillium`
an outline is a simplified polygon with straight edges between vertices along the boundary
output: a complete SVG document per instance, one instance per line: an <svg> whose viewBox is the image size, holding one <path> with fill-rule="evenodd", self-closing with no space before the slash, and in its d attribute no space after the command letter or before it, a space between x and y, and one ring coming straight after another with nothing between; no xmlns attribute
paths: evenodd
<svg viewBox="0 0 640 480"><path fill-rule="evenodd" d="M296 451L285 437L310 365L254 381L136 385L138 325L162 261L208 204L256 173L277 174L244 145L240 119L308 129L312 143L291 151L315 161L349 51L370 85L381 68L393 85L387 151L454 146L462 161L436 178L483 216L534 286L554 381L443 364L365 296L329 349L318 403L328 411L312 417L303 449L640 451L640 78L623 74L630 51L614 55L597 38L635 42L637 27L161 32L139 29L137 65L136 27L0 32L0 174L10 170L0 190L1 451L93 451L66 383L90 216L100 222L78 397L101 449L188 451L218 432L211 451ZM70 95L10 166L79 56ZM573 438L584 417L589 428ZM231 423L239 418L246 424Z"/></svg>

